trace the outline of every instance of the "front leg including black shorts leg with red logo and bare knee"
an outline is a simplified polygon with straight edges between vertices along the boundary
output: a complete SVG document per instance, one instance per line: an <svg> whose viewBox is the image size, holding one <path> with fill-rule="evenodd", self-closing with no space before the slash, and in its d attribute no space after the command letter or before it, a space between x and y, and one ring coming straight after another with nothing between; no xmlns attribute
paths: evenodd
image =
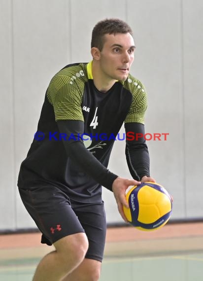
<svg viewBox="0 0 203 281"><path fill-rule="evenodd" d="M39 263L34 281L60 281L84 259L87 236L70 206L68 196L54 186L19 190L23 203L43 233L42 243L56 250Z"/></svg>

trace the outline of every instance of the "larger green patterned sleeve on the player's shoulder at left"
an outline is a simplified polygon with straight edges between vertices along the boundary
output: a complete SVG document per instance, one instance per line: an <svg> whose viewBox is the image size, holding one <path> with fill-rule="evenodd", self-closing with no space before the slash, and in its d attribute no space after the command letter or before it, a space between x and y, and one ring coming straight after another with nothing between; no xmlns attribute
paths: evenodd
<svg viewBox="0 0 203 281"><path fill-rule="evenodd" d="M82 85L69 81L67 75L55 75L47 89L47 98L54 107L55 120L84 121L81 109Z"/></svg>

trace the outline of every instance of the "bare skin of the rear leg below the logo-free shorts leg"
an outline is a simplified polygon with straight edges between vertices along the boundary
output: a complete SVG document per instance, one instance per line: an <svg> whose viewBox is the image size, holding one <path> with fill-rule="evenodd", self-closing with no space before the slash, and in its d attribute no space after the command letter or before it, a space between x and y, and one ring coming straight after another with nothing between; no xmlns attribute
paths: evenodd
<svg viewBox="0 0 203 281"><path fill-rule="evenodd" d="M98 260L85 258L63 281L98 281L100 279L101 264Z"/></svg>

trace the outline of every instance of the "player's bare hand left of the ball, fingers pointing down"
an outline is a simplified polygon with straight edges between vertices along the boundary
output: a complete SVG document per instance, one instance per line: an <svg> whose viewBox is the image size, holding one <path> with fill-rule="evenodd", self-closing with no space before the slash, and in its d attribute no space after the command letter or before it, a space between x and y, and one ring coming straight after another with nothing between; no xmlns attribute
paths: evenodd
<svg viewBox="0 0 203 281"><path fill-rule="evenodd" d="M134 186L139 185L140 183L140 181L136 181L135 179L128 179L119 176L113 181L112 191L118 205L118 211L126 222L128 222L128 220L123 211L123 205L129 208L128 202L126 201L126 189L130 185Z"/></svg>

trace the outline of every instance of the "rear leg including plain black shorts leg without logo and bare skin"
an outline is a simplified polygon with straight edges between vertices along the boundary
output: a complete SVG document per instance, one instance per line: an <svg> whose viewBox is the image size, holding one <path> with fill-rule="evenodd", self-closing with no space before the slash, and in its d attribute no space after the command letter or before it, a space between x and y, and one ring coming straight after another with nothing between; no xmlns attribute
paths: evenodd
<svg viewBox="0 0 203 281"><path fill-rule="evenodd" d="M105 244L106 220L103 203L73 206L89 241L83 262L63 281L98 281Z"/></svg>

